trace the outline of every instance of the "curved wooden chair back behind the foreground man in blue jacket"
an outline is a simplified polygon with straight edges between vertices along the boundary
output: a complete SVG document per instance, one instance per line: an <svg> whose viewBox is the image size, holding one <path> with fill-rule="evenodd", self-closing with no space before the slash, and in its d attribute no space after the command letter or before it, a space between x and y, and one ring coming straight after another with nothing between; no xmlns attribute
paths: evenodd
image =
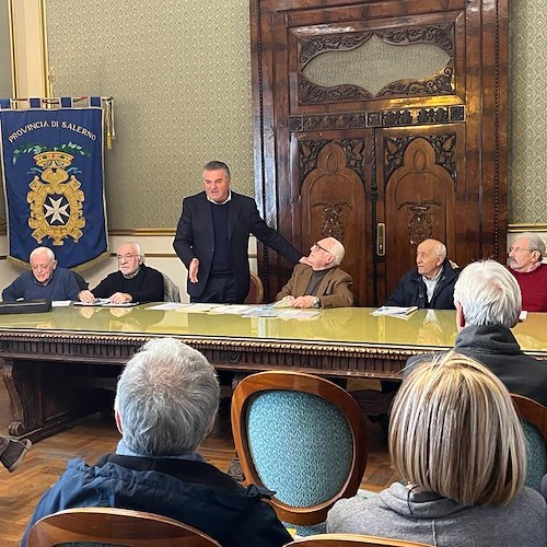
<svg viewBox="0 0 547 547"><path fill-rule="evenodd" d="M65 543L124 547L214 547L214 539L173 519L143 511L80 508L44 516L34 524L27 547Z"/></svg>

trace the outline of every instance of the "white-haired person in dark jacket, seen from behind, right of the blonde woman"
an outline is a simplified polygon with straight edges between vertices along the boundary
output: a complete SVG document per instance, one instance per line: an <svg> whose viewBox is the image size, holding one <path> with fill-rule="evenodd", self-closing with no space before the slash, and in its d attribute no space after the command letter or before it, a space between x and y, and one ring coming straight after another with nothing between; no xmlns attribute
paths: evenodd
<svg viewBox="0 0 547 547"><path fill-rule="evenodd" d="M466 266L454 288L458 335L454 350L488 366L508 387L547 406L547 363L525 354L511 328L519 322L521 289L496 260ZM423 360L412 357L406 374Z"/></svg>

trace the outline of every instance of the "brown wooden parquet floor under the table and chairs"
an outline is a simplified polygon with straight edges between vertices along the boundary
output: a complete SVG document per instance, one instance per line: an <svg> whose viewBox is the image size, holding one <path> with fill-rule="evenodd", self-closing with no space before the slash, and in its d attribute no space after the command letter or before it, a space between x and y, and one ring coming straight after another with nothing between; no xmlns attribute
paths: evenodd
<svg viewBox="0 0 547 547"><path fill-rule="evenodd" d="M3 434L11 419L8 393L0 382L0 432ZM380 491L396 477L380 440L380 428L370 422L369 426L370 453L361 487ZM0 546L19 545L42 493L62 474L68 459L81 457L94 463L102 454L114 452L118 439L112 417L94 418L36 443L24 464L13 474L0 466ZM228 417L219 417L200 453L211 464L228 470L234 455Z"/></svg>

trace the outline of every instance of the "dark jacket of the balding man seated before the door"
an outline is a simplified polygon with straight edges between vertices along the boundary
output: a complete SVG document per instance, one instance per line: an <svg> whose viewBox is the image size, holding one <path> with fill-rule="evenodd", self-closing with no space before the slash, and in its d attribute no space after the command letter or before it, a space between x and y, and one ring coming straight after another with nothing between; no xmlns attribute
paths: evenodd
<svg viewBox="0 0 547 547"><path fill-rule="evenodd" d="M441 278L437 282L431 302L421 275L415 268L403 276L395 292L385 301L388 306L418 306L433 310L454 310L454 286L459 268L453 269L449 259L443 263Z"/></svg>

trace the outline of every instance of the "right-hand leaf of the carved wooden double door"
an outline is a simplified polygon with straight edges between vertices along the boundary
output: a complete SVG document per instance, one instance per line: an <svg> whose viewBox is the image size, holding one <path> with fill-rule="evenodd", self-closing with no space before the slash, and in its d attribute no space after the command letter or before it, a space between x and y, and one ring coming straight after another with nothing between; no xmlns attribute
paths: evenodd
<svg viewBox="0 0 547 547"><path fill-rule="evenodd" d="M380 301L393 292L400 271L414 267L423 240L445 242L449 257L461 264L474 259L456 244L466 236L465 225L478 222L477 200L468 199L476 182L465 177L464 129L445 124L414 135L407 128L377 131L377 219L385 225L384 246L376 249ZM456 211L465 222L456 222Z"/></svg>

